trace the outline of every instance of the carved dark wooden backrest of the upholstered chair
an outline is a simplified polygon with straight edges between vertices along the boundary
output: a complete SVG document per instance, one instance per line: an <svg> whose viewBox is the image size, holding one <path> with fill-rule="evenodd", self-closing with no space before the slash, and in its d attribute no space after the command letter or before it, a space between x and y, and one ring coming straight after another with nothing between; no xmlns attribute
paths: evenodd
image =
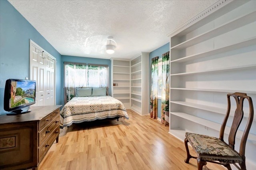
<svg viewBox="0 0 256 170"><path fill-rule="evenodd" d="M228 137L228 145L234 149L235 146L235 140L236 140L236 132L238 130L238 127L244 117L244 111L243 111L243 105L244 105L244 99L247 99L249 102L249 117L248 117L248 121L247 121L247 125L244 129L244 134L242 136L241 139L241 143L240 143L240 149L239 149L239 154L241 156L244 156L245 154L245 146L246 146L246 141L247 141L247 137L252 125L252 121L253 121L253 116L254 116L254 110L253 110L253 104L252 104L252 98L250 98L249 96L247 96L246 93L234 93L234 94L228 94L228 108L227 108L227 112L226 115L224 117L224 120L222 122L221 125L221 129L220 129L220 140L224 141L223 137L224 137L224 131L225 131L225 127L226 127L226 123L228 121L228 116L230 114L230 96L233 96L234 99L236 100L236 111L234 113L234 119L231 125L231 130L230 130L230 134Z"/></svg>

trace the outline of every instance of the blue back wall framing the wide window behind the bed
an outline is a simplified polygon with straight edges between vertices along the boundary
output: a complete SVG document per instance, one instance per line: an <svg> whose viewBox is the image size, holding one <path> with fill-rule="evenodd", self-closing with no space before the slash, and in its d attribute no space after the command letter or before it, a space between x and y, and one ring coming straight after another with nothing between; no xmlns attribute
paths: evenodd
<svg viewBox="0 0 256 170"><path fill-rule="evenodd" d="M62 55L62 72L64 72L64 68L63 68L63 62L76 62L76 63L88 63L88 64L104 64L104 65L108 65L109 66L109 72L108 72L108 76L109 76L109 80L108 80L108 84L109 84L109 89L108 89L108 93L109 95L111 94L111 61L109 59L95 59L95 58L90 58L90 57L76 57L76 56L68 56L68 55ZM61 76L61 81L64 81L64 75L62 74ZM63 87L63 83L62 83L62 87ZM62 88L63 89L63 88ZM63 91L63 90L62 90ZM64 91L63 91L64 93ZM62 104L64 104L63 100L64 100L64 94L62 95L63 99L62 99Z"/></svg>

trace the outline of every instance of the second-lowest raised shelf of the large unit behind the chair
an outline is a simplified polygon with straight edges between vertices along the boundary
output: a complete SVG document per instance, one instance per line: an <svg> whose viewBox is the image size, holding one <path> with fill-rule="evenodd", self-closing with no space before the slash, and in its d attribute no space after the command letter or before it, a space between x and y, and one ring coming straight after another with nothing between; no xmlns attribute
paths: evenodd
<svg viewBox="0 0 256 170"><path fill-rule="evenodd" d="M220 113L223 115L226 115L226 111L227 111L227 109L223 109L220 107L206 106L206 105L190 103L190 102L170 101L170 103L179 104L182 106L193 107L196 109L201 109L201 110L206 110L206 111L212 111L214 113ZM230 116L234 116L234 113L235 113L234 110L230 110ZM248 118L248 115L249 115L249 113L245 113L244 117ZM256 121L256 117L254 117L254 121Z"/></svg>

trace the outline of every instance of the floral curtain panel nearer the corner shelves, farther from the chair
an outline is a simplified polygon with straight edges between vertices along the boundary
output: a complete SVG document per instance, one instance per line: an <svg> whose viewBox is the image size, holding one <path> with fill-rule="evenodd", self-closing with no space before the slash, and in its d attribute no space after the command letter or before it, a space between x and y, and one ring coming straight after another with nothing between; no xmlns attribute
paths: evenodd
<svg viewBox="0 0 256 170"><path fill-rule="evenodd" d="M157 119L158 57L151 61L150 117Z"/></svg>

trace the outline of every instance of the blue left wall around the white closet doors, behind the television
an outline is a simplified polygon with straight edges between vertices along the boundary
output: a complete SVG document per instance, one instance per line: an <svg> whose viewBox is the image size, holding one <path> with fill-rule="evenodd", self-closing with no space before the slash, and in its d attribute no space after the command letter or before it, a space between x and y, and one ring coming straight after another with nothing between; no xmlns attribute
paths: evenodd
<svg viewBox="0 0 256 170"><path fill-rule="evenodd" d="M7 1L0 0L0 114L4 111L4 86L9 78L29 78L29 39L56 58L56 104L61 104L61 55ZM63 100L63 99L62 99Z"/></svg>

